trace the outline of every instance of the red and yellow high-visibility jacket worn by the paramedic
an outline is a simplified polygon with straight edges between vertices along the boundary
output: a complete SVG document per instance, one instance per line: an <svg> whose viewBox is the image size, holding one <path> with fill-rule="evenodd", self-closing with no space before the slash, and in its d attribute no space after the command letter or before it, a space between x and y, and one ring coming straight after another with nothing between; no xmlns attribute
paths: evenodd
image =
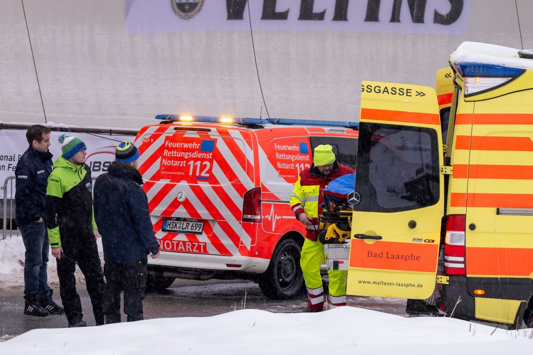
<svg viewBox="0 0 533 355"><path fill-rule="evenodd" d="M300 173L294 185L293 193L290 195L290 207L296 218L302 212L312 218L313 225L305 226L305 238L312 241L318 239L318 216L322 213L320 205L323 202L322 189L325 189L332 180L354 172L352 168L335 162L333 171L325 178L314 165Z"/></svg>

